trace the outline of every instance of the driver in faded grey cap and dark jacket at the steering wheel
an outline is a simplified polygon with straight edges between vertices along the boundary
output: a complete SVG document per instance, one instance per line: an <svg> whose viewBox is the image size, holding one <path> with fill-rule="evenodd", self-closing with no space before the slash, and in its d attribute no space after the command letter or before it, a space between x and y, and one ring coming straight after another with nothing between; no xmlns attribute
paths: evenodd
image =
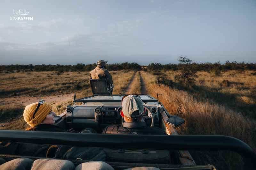
<svg viewBox="0 0 256 170"><path fill-rule="evenodd" d="M125 95L121 103L120 114L125 121L123 126L109 125L103 129L103 134L167 135L163 129L148 127L147 123L142 121L146 109L139 95Z"/></svg>

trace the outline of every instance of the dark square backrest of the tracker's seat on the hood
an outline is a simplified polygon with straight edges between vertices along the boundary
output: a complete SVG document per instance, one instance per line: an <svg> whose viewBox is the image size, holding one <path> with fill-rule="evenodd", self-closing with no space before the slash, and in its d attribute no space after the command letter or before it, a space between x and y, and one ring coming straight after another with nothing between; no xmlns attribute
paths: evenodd
<svg viewBox="0 0 256 170"><path fill-rule="evenodd" d="M92 94L109 94L106 79L90 79Z"/></svg>

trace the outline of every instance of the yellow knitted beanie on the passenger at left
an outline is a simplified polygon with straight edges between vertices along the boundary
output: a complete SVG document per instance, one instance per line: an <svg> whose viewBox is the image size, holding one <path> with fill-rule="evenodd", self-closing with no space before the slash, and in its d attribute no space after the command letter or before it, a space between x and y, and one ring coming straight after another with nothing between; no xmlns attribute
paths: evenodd
<svg viewBox="0 0 256 170"><path fill-rule="evenodd" d="M24 112L23 117L24 120L29 124L31 127L35 127L36 125L40 124L44 118L50 113L52 110L52 105L49 103L42 104L39 109L36 111L38 103L32 103L30 105L27 105ZM33 118L33 115L36 111L35 118Z"/></svg>

